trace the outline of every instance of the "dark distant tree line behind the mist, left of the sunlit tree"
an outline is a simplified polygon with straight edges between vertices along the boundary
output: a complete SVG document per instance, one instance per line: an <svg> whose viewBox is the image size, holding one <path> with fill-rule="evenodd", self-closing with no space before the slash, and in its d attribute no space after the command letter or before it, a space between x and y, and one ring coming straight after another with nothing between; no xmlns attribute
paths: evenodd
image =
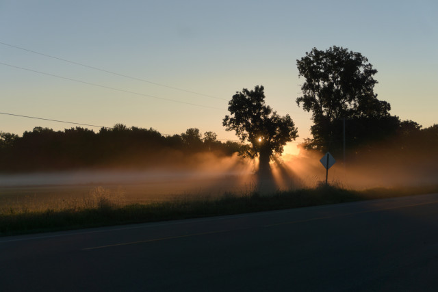
<svg viewBox="0 0 438 292"><path fill-rule="evenodd" d="M221 142L216 133L191 128L181 135L116 124L98 133L75 127L64 131L35 127L21 137L0 132L0 171L31 172L80 168L182 165L198 152L229 156L238 142Z"/></svg>

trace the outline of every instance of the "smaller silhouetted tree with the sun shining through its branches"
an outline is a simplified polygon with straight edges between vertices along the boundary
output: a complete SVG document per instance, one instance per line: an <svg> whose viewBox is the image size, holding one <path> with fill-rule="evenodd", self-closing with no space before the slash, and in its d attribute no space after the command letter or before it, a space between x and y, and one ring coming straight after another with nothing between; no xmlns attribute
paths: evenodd
<svg viewBox="0 0 438 292"><path fill-rule="evenodd" d="M259 157L259 172L263 174L269 168L274 154L281 154L287 142L298 137L298 131L289 115L279 116L265 104L263 86L254 90L244 88L236 92L229 101L230 116L225 116L223 125L227 131L235 131L242 142L249 142L246 152L250 157Z"/></svg>

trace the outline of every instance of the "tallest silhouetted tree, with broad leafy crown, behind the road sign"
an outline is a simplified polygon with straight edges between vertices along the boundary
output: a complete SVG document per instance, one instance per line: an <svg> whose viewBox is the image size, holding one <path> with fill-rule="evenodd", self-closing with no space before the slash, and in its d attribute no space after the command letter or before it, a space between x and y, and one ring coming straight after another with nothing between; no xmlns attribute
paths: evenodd
<svg viewBox="0 0 438 292"><path fill-rule="evenodd" d="M397 119L389 115L391 105L377 99L374 93L377 70L361 53L336 46L326 51L313 48L305 57L297 59L296 64L298 76L305 78L302 96L296 98L296 103L305 111L312 111L314 123L311 127L313 140L308 148L329 148L333 137L342 133L339 125L343 118L364 126L364 121L380 120L392 125ZM390 131L396 129L388 128ZM360 137L361 133L356 132L356 135Z"/></svg>

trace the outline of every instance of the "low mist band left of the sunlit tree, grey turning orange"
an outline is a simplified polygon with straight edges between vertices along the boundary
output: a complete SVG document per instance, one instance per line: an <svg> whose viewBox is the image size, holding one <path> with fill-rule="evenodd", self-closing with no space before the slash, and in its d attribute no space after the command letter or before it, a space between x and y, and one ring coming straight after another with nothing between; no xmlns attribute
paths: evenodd
<svg viewBox="0 0 438 292"><path fill-rule="evenodd" d="M173 155L173 153L172 153ZM222 195L250 193L255 189L255 163L236 155L198 153L175 163L169 156L160 165L149 168L105 168L1 174L0 187L25 189L59 189L72 187L123 187L141 196ZM36 191L37 193L38 191Z"/></svg>

